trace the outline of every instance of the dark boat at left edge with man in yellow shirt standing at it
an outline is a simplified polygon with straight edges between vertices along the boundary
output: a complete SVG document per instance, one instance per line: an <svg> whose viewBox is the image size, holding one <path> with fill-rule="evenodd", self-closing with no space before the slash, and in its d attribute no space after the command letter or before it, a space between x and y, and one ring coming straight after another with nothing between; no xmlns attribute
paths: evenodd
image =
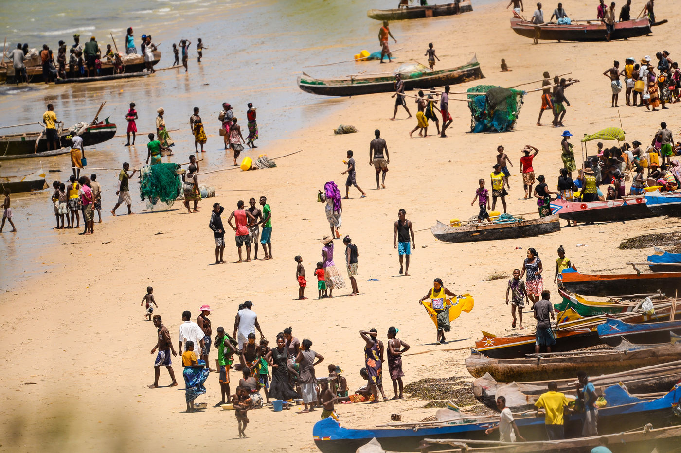
<svg viewBox="0 0 681 453"><path fill-rule="evenodd" d="M61 131L60 138L63 148L69 148L71 145L70 135L72 135L72 132L69 130ZM114 135L116 135L116 124L110 123L109 118L105 118L104 121L88 126L80 134L80 137L83 139L83 146L93 146L112 139ZM38 142L37 148L35 147L36 141ZM0 135L0 160L3 160L3 158L34 157L35 152L41 153L47 150L45 134L41 135L39 132ZM58 154L63 153L59 152Z"/></svg>

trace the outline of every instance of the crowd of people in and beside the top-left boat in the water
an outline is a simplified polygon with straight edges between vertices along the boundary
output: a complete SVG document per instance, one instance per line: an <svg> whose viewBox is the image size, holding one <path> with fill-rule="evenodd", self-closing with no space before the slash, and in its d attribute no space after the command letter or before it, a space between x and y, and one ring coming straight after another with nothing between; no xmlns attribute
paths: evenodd
<svg viewBox="0 0 681 453"><path fill-rule="evenodd" d="M65 41L59 40L57 44L57 61L54 60L54 52L47 44L42 45L42 50L39 50L40 65L42 65L42 77L44 83L49 84L57 79L72 79L82 77L98 77L102 75L102 64L112 65L114 74L125 73L125 65L131 62L131 58L142 58L146 71L154 73L153 65L157 61L154 52L158 50L157 45L152 42L151 35L143 34L140 40L140 53L135 44L135 37L133 35L132 27L127 29L125 35L125 52L118 52L118 46L114 41L114 49L111 44L106 44L106 49L99 46L95 36L91 36L89 41L85 44L80 44L80 33L74 33L74 44L69 48ZM113 37L112 37L113 41ZM174 54L173 67L179 65L179 54L182 52L182 65L185 67L185 72L189 71L187 61L189 59L189 39L180 39L179 44L172 44ZM202 39L197 39L196 52L197 62L201 63L203 57L203 50L207 49ZM14 49L8 55L12 61L12 67L16 74L16 84L21 82L29 82L29 75L27 75L25 61L31 58L32 52L28 43L17 43ZM136 61L137 63L137 61Z"/></svg>

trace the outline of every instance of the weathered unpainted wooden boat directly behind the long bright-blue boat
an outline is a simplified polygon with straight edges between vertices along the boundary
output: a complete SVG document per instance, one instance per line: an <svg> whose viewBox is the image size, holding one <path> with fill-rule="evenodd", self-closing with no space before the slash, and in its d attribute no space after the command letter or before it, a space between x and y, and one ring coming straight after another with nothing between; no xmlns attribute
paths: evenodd
<svg viewBox="0 0 681 453"><path fill-rule="evenodd" d="M642 395L667 392L674 387L674 384L679 382L680 377L681 360L675 360L674 362L620 371L619 373L590 375L589 382L594 384L599 396L603 395L603 390L606 387L619 382L622 382L631 394ZM533 406L539 396L548 390L550 382L556 383L558 392L573 395L575 391L575 377L532 382L496 382L494 377L488 373L471 382L471 387L473 388L473 396L490 409L498 411L496 399L497 397L504 397L507 407L510 407L513 412L523 412L534 408Z"/></svg>

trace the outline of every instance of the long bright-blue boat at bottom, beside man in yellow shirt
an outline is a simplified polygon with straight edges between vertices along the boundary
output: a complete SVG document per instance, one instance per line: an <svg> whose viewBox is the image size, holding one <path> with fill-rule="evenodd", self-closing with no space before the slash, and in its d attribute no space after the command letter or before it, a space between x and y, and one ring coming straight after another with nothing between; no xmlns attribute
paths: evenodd
<svg viewBox="0 0 681 453"><path fill-rule="evenodd" d="M599 434L621 433L651 423L655 428L678 424L681 420L674 415L674 406L681 398L678 384L657 399L632 397L619 385L603 390L607 406L599 409ZM342 417L342 416L341 416ZM424 422L377 429L349 429L340 426L333 418L315 423L313 440L323 453L353 453L376 438L384 450L417 451L424 439L471 439L496 440L485 434L485 430L496 426L498 415L479 418L465 415L458 420L447 422ZM528 441L546 439L543 418L534 414L518 416L516 424ZM565 437L582 437L582 414L566 414Z"/></svg>

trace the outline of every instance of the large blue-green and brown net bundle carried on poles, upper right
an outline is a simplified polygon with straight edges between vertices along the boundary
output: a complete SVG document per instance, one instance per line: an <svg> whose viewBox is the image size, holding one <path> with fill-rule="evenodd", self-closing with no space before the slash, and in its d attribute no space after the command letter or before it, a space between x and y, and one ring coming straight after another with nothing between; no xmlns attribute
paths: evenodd
<svg viewBox="0 0 681 453"><path fill-rule="evenodd" d="M493 85L466 90L471 110L471 132L505 132L518 120L524 91Z"/></svg>

